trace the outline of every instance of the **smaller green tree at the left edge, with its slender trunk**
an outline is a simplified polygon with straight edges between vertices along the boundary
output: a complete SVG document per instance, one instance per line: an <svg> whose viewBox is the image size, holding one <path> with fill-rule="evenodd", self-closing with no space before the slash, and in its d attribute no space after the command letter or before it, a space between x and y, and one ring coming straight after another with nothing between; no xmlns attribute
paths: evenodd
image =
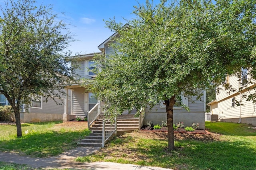
<svg viewBox="0 0 256 170"><path fill-rule="evenodd" d="M72 41L51 6L35 6L34 0L8 0L1 6L0 93L14 110L18 137L21 105L38 95L46 101L60 98L65 84L74 80L65 59L70 53L64 52Z"/></svg>

